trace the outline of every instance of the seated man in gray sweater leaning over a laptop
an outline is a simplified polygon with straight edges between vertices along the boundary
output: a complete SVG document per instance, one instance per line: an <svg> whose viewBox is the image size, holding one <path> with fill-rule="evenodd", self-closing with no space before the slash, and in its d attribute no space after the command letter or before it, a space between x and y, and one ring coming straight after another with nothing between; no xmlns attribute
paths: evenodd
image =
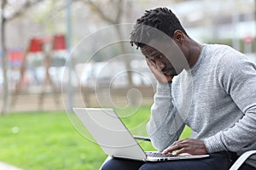
<svg viewBox="0 0 256 170"><path fill-rule="evenodd" d="M147 125L154 147L163 154L210 157L156 163L113 158L102 169L227 170L256 149L256 66L245 55L195 42L168 8L146 11L137 20L133 44L158 81ZM178 140L185 125L195 131L194 139ZM255 159L241 167L255 168Z"/></svg>

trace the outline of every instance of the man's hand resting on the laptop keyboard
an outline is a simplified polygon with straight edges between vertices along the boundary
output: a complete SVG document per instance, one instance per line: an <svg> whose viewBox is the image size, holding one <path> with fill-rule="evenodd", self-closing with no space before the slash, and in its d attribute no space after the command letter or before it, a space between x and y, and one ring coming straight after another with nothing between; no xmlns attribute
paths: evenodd
<svg viewBox="0 0 256 170"><path fill-rule="evenodd" d="M172 153L172 151L177 150ZM163 154L172 153L178 156L182 153L188 153L190 155L204 155L207 154L207 148L204 141L199 139L182 139L174 142L171 146L163 150Z"/></svg>

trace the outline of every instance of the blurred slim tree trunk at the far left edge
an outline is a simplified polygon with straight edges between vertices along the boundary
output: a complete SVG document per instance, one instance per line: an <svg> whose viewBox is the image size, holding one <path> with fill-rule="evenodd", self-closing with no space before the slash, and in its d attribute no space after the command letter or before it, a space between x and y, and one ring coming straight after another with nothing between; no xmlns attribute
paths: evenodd
<svg viewBox="0 0 256 170"><path fill-rule="evenodd" d="M5 4L7 3L6 0L3 0L1 6L1 43L2 43L2 69L3 69L3 99L2 99L2 107L0 114L3 115L7 111L8 105L8 77L7 77L7 70L8 70L8 55L6 50L6 43L5 43L5 18L3 15Z"/></svg>

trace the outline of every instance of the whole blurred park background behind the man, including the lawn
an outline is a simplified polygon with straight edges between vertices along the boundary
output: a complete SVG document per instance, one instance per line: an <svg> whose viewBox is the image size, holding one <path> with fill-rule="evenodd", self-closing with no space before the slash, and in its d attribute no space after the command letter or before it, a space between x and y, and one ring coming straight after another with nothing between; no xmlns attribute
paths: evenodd
<svg viewBox="0 0 256 170"><path fill-rule="evenodd" d="M129 42L133 23L146 9L171 8L189 37L230 45L256 62L256 0L1 0L0 5L0 165L98 169L106 156L73 136L74 120L66 117L73 106L116 108L132 133L146 135L137 127L148 120L155 80ZM144 116L131 116L137 112Z"/></svg>

